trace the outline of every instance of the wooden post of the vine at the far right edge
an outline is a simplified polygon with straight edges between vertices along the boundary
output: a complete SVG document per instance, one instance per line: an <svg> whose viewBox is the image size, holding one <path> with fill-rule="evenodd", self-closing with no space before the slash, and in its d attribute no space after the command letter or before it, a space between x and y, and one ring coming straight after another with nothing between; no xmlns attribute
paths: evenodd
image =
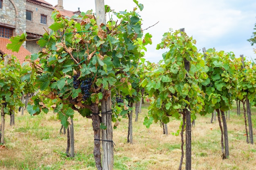
<svg viewBox="0 0 256 170"><path fill-rule="evenodd" d="M243 68L245 68L244 55L240 55L240 57L243 63ZM252 130L252 114L251 114L250 101L248 99L248 94L245 96L245 102L246 102L247 117L248 117L249 141L251 144L254 144L253 130Z"/></svg>

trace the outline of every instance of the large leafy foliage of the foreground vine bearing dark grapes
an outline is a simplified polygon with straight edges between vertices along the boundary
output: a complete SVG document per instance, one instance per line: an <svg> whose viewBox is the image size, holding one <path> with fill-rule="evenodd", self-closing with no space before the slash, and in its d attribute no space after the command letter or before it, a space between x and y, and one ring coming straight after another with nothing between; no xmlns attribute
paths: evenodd
<svg viewBox="0 0 256 170"><path fill-rule="evenodd" d="M143 9L142 4L135 3L140 10ZM143 51L146 51L144 46L151 44L151 35L147 33L143 37L141 18L136 9L117 13L109 6L106 8L107 12L117 16L119 23L110 18L106 25L98 26L92 11L73 16L72 19L53 12L54 23L49 26L51 31L37 42L43 50L31 55L33 69L30 79L36 77L34 87L40 89L28 106L31 115L53 109L58 113L61 124L67 127L68 118L73 115L72 109L88 116L92 112L84 109L92 110L92 104L100 106L109 89L112 93L136 95L133 88L135 78L132 77L137 73ZM9 46L16 49L18 45L12 41ZM80 82L78 88L74 88L76 75L77 81L92 79L89 97L84 97L85 91ZM24 76L24 79L28 78L29 75ZM138 84L139 80L135 82ZM128 102L119 105L116 109L119 112L115 112L114 118L120 112L130 110Z"/></svg>

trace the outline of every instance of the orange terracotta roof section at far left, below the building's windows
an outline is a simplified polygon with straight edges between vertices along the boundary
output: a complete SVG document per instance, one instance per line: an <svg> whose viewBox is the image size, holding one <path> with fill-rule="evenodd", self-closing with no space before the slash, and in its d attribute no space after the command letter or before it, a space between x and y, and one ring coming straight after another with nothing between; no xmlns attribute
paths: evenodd
<svg viewBox="0 0 256 170"><path fill-rule="evenodd" d="M0 37L0 52L2 54L10 54L10 55L16 56L20 61L20 64L22 64L23 62L25 62L25 57L27 55L31 55L31 53L27 49L25 49L23 46L20 47L20 51L18 53L8 50L6 48L6 45L10 42L11 41L9 39Z"/></svg>

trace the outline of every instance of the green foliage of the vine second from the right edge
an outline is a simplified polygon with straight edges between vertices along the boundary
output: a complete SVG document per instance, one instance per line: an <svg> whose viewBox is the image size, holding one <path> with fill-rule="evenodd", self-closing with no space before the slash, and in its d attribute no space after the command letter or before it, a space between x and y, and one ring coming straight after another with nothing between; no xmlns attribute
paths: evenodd
<svg viewBox="0 0 256 170"><path fill-rule="evenodd" d="M230 110L237 93L238 83L236 73L238 65L235 55L232 52L216 52L215 49L208 49L205 57L207 79L202 82L205 107L200 114L212 113L215 109Z"/></svg>

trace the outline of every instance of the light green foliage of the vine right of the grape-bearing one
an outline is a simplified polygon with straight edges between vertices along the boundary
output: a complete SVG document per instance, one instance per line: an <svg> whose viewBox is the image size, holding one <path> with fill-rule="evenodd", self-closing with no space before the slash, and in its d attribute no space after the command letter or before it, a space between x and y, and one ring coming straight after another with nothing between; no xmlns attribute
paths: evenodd
<svg viewBox="0 0 256 170"><path fill-rule="evenodd" d="M169 51L163 54L164 64L147 65L146 78L141 81L148 96L154 97L149 106L149 118L144 119L146 127L153 120L166 124L169 122L168 116L178 119L184 109L190 108L192 114L202 109L203 92L198 83L205 80L201 76L204 74L204 61L194 44L195 40L186 33L175 31L165 33L162 42L157 45L157 49L167 48ZM185 60L190 62L189 72L184 68Z"/></svg>

